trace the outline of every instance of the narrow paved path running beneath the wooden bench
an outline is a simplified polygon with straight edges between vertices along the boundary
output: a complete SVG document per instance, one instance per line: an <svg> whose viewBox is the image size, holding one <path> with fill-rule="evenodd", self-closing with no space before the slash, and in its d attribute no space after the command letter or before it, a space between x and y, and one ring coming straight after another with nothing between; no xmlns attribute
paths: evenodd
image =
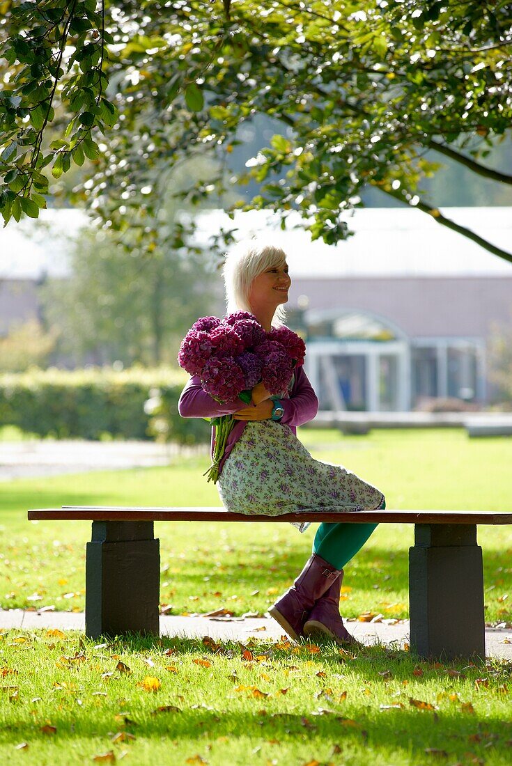
<svg viewBox="0 0 512 766"><path fill-rule="evenodd" d="M394 625L363 623L347 620L353 635L366 644L382 643L389 647L402 647L409 642L409 620ZM59 628L85 629L83 612L43 612L21 609L0 609L0 628ZM254 638L279 639L282 628L268 617L160 617L160 633L165 636L189 638L210 636L215 640L246 641ZM486 628L487 656L512 660L512 628Z"/></svg>

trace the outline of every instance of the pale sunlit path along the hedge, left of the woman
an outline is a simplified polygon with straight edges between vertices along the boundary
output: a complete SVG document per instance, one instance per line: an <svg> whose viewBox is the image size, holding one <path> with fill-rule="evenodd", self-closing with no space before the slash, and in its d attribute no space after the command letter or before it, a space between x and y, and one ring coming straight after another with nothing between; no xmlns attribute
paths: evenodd
<svg viewBox="0 0 512 766"><path fill-rule="evenodd" d="M183 454L207 447L156 444L153 441L23 440L0 441L0 481L61 473L166 466Z"/></svg>

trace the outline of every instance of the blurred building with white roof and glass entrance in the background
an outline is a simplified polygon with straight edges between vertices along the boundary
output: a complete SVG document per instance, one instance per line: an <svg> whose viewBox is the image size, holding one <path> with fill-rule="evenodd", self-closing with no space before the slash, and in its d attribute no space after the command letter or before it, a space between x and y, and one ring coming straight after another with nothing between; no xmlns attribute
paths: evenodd
<svg viewBox="0 0 512 766"><path fill-rule="evenodd" d="M445 208L448 218L504 249L512 208ZM87 219L46 211L0 231L0 336L41 318L38 283L69 274L66 237ZM233 222L219 211L198 218L199 241ZM288 254L290 324L307 336L307 372L323 409L407 411L433 399L481 407L492 401L487 349L512 329L512 264L411 209L365 208L355 236L329 247L262 211L235 216L239 237L258 235ZM37 231L34 239L33 232ZM218 287L218 286L216 286ZM184 296L184 300L186 300ZM222 313L219 300L218 311Z"/></svg>

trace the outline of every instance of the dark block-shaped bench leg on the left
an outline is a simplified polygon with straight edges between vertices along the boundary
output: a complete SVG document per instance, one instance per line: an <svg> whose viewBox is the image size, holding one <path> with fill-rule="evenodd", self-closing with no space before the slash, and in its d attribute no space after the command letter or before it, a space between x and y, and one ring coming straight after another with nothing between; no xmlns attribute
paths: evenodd
<svg viewBox="0 0 512 766"><path fill-rule="evenodd" d="M85 633L159 635L159 540L153 522L93 522L87 543Z"/></svg>

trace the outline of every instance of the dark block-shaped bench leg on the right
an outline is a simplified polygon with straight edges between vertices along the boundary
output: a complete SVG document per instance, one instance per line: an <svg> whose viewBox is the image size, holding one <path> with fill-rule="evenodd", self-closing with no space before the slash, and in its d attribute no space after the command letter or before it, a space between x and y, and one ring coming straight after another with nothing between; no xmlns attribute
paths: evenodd
<svg viewBox="0 0 512 766"><path fill-rule="evenodd" d="M411 650L485 656L484 575L476 524L416 524L409 548Z"/></svg>

